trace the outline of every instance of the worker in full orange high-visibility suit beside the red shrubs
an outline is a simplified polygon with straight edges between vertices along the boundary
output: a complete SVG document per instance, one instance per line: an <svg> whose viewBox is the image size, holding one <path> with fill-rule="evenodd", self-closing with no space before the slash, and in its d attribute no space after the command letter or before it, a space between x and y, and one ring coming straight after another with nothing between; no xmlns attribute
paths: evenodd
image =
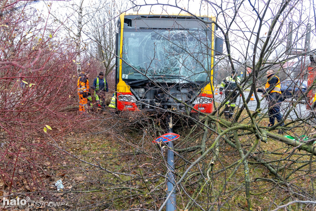
<svg viewBox="0 0 316 211"><path fill-rule="evenodd" d="M89 81L88 77L90 76L89 73L84 74L82 72L79 75L78 83L77 83L77 90L79 95L79 112L83 113L86 109L88 109L88 95L89 95Z"/></svg>

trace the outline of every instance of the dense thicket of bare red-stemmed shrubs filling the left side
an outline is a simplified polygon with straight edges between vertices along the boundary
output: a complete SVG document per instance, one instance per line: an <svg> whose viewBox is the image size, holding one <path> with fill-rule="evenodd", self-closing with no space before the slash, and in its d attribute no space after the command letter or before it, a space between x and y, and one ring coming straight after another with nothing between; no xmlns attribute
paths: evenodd
<svg viewBox="0 0 316 211"><path fill-rule="evenodd" d="M7 195L43 190L41 163L58 161L46 133L76 125L69 124L74 115L62 113L76 103L69 83L76 81L76 46L28 2L2 2L1 12L0 189Z"/></svg>

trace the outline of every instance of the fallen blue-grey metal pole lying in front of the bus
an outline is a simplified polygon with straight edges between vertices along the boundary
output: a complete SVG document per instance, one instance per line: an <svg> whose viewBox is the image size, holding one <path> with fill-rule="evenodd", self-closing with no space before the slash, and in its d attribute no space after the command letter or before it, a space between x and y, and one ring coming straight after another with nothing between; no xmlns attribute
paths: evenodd
<svg viewBox="0 0 316 211"><path fill-rule="evenodd" d="M168 118L169 119L169 118ZM167 121L167 124L169 122ZM171 124L170 124L171 125ZM172 128L168 128L168 133L173 133L173 129ZM170 141L167 143L168 147L170 147L171 149L173 148L173 142ZM167 188L168 188L168 193L167 196L170 194L171 190L173 189L173 184L175 184L175 179L174 179L174 175L173 175L173 171L174 171L174 153L172 150L168 149L168 154L167 154L167 169L168 169L168 178L167 178ZM166 211L174 211L177 210L176 209L176 194L175 194L175 190L173 191L173 194L170 196L170 198L167 201L167 205L166 205Z"/></svg>

